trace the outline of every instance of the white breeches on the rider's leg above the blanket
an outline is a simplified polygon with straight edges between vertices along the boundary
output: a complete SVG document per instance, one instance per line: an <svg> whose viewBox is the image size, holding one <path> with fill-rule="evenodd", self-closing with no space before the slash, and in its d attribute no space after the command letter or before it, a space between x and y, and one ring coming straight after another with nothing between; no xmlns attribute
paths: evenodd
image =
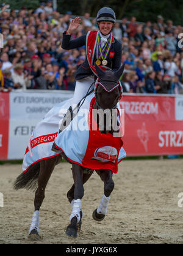
<svg viewBox="0 0 183 256"><path fill-rule="evenodd" d="M73 96L73 104L78 104L80 102L80 100L87 94L88 89L90 88L93 82L94 82L93 75L76 81L76 87L75 87L74 96ZM94 88L94 83L91 86L89 91L91 91L91 89L93 88Z"/></svg>

